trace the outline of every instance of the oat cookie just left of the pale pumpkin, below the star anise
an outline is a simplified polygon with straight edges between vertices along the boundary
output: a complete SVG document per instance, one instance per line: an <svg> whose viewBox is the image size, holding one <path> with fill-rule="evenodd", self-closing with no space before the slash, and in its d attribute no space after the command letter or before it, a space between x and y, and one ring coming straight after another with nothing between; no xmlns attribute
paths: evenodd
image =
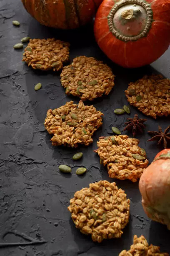
<svg viewBox="0 0 170 256"><path fill-rule="evenodd" d="M138 146L139 140L127 135L100 137L95 152L110 178L130 179L136 182L148 166L146 152Z"/></svg>

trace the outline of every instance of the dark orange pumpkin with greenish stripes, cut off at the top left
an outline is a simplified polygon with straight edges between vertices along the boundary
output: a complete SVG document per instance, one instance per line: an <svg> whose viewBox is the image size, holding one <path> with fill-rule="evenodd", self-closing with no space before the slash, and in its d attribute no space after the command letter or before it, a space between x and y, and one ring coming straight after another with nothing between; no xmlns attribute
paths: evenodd
<svg viewBox="0 0 170 256"><path fill-rule="evenodd" d="M92 20L102 0L22 0L25 9L42 25L70 29Z"/></svg>

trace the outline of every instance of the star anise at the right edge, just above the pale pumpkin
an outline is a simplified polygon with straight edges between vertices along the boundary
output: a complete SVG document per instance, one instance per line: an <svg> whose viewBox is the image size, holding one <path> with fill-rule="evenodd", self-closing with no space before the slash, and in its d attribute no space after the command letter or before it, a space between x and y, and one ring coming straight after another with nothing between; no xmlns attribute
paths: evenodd
<svg viewBox="0 0 170 256"><path fill-rule="evenodd" d="M167 142L170 142L170 125L164 130L158 125L158 132L157 131L148 131L148 133L153 136L148 141L158 141L158 145L163 143L164 148L167 148Z"/></svg>

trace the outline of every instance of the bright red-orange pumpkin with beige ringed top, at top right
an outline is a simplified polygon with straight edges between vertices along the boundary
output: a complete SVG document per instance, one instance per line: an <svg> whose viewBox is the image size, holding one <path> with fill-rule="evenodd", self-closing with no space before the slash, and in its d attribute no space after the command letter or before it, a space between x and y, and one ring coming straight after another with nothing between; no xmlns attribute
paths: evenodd
<svg viewBox="0 0 170 256"><path fill-rule="evenodd" d="M100 49L122 67L141 67L170 45L170 0L104 0L95 17Z"/></svg>

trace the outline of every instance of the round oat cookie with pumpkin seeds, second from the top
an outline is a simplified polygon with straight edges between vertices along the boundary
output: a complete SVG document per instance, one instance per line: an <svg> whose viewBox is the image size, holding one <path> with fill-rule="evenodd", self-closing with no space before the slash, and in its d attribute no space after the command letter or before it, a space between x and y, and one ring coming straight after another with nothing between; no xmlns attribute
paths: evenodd
<svg viewBox="0 0 170 256"><path fill-rule="evenodd" d="M114 87L115 76L110 67L93 57L79 56L61 72L61 84L67 95L81 100L94 100L108 95Z"/></svg>

